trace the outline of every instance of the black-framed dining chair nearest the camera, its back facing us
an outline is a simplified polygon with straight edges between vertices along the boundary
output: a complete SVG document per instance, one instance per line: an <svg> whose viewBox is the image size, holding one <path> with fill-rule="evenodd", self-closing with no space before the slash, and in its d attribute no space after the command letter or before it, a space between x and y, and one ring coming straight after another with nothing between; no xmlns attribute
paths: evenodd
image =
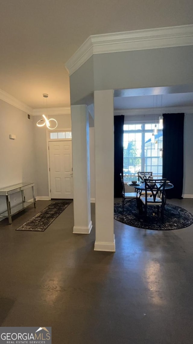
<svg viewBox="0 0 193 344"><path fill-rule="evenodd" d="M156 206L157 214L159 216L159 208L161 208L161 220L164 221L164 207L166 204L165 199L165 186L166 178L163 179L144 179L145 183L145 197L140 197L141 202L143 203L145 216L147 217L147 207ZM151 196L149 196L151 192Z"/></svg>

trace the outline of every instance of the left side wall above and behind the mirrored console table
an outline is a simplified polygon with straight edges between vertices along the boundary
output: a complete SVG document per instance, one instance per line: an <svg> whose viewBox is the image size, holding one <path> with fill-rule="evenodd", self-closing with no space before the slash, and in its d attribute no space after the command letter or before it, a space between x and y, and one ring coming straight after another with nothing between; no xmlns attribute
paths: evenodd
<svg viewBox="0 0 193 344"><path fill-rule="evenodd" d="M0 100L0 187L21 182L35 182L33 119L26 112ZM9 134L16 136L15 140ZM26 192L26 199L32 198ZM11 204L21 201L20 193L10 197ZM5 197L0 197L0 212L6 210Z"/></svg>

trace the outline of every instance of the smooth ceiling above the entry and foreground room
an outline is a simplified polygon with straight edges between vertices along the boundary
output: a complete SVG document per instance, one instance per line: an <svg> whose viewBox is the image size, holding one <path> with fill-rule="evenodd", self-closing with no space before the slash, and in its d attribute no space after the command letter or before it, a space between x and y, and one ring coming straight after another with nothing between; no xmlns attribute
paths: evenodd
<svg viewBox="0 0 193 344"><path fill-rule="evenodd" d="M68 107L65 63L90 35L192 24L193 1L1 0L0 16L0 89L32 108L45 107L43 93Z"/></svg>

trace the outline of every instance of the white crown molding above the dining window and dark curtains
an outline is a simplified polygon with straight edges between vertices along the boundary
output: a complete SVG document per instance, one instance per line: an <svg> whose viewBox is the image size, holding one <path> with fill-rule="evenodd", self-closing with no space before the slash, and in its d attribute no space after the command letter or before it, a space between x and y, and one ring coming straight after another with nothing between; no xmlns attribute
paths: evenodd
<svg viewBox="0 0 193 344"><path fill-rule="evenodd" d="M157 107L157 108L143 108L143 109L118 109L114 110L114 115L161 115L161 114L175 114L184 112L185 114L193 114L193 106L179 106L179 107Z"/></svg>

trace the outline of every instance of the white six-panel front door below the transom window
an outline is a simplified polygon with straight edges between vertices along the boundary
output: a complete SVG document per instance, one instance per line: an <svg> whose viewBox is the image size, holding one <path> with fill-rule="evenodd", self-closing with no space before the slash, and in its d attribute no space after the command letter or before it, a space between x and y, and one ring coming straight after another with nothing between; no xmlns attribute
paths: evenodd
<svg viewBox="0 0 193 344"><path fill-rule="evenodd" d="M51 198L73 198L72 141L49 141Z"/></svg>

